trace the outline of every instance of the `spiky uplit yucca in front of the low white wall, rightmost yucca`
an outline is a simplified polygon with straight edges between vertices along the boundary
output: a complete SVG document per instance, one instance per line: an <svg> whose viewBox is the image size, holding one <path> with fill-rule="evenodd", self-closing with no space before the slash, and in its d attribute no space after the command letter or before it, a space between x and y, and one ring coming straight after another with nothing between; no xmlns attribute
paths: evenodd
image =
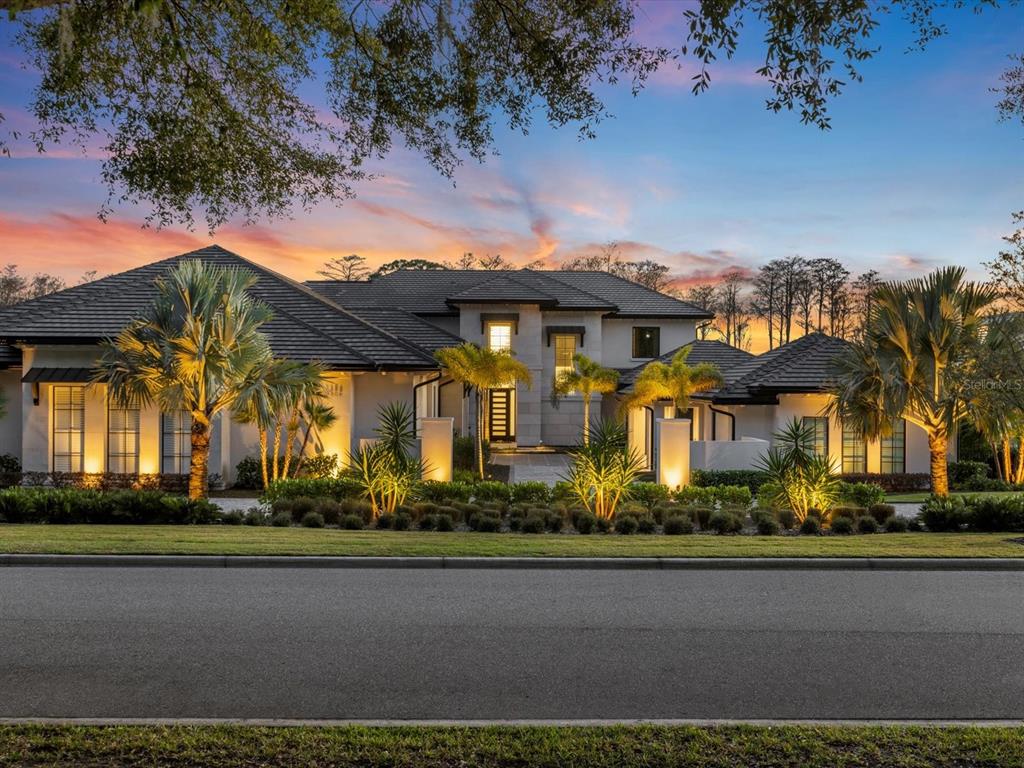
<svg viewBox="0 0 1024 768"><path fill-rule="evenodd" d="M839 498L840 480L831 460L814 454L814 427L794 417L773 438L775 444L759 460L768 475L769 503L793 510L800 522L812 509L825 515Z"/></svg>

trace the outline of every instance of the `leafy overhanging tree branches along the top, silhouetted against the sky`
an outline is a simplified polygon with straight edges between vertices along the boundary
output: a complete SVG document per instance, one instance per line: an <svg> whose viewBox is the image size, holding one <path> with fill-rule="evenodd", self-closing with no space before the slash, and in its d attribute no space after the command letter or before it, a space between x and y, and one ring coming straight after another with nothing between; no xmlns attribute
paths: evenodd
<svg viewBox="0 0 1024 768"><path fill-rule="evenodd" d="M527 131L543 115L590 137L607 116L602 83L636 92L687 56L702 91L744 25L765 30L768 109L826 128L829 100L878 50L881 17L901 13L924 46L946 32L938 10L997 2L706 1L681 6L676 48L638 38L634 0L0 0L0 10L41 73L31 138L41 150L98 138L101 214L138 203L158 225L198 214L212 230L348 198L395 142L452 176L464 157L497 148L500 121ZM1024 117L1019 65L996 88L1005 118Z"/></svg>

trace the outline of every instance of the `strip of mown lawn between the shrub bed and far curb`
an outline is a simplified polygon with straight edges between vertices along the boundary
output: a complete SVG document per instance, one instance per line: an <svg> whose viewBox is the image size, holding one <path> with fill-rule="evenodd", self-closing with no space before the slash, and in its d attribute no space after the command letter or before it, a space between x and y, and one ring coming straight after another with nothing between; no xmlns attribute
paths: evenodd
<svg viewBox="0 0 1024 768"><path fill-rule="evenodd" d="M1014 534L578 536L244 525L0 525L0 553L561 557L1024 557Z"/></svg>

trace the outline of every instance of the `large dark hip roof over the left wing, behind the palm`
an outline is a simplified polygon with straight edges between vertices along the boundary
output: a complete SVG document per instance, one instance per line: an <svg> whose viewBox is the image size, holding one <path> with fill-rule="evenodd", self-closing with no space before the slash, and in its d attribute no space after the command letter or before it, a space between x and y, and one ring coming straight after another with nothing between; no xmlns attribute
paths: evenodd
<svg viewBox="0 0 1024 768"><path fill-rule="evenodd" d="M210 246L0 311L0 343L82 343L113 337L152 303L154 281L185 259L254 272L256 298L273 310L263 327L275 354L335 370L433 370L430 350L337 306L238 254Z"/></svg>

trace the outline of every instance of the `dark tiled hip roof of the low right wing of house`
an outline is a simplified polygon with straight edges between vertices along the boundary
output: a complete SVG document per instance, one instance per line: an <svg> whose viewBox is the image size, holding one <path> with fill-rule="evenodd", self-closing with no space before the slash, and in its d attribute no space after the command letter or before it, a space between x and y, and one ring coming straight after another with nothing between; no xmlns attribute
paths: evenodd
<svg viewBox="0 0 1024 768"><path fill-rule="evenodd" d="M834 362L849 342L812 333L784 344L736 369L725 387L697 397L714 402L775 402L786 392L825 392L833 383Z"/></svg>

